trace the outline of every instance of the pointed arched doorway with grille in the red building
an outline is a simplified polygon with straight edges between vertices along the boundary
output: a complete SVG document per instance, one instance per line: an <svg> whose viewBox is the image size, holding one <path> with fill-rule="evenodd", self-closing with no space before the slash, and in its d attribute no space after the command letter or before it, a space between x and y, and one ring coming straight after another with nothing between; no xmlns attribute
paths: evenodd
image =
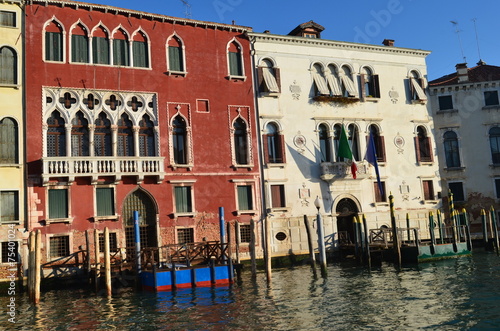
<svg viewBox="0 0 500 331"><path fill-rule="evenodd" d="M139 212L139 232L141 247L157 247L156 204L152 197L142 189L129 194L123 202L122 218L125 227L126 247L135 246L134 211Z"/></svg>

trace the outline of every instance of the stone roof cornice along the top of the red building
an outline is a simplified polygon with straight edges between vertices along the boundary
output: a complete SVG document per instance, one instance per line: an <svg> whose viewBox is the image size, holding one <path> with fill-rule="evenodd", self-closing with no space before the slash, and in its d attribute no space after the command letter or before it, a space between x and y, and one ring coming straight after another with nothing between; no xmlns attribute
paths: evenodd
<svg viewBox="0 0 500 331"><path fill-rule="evenodd" d="M139 17L140 19L149 19L152 21L159 21L162 23L167 22L167 23L172 23L172 24L191 25L194 27L211 28L214 30L220 29L220 30L235 31L235 32L240 32L240 33L252 31L252 28L246 27L246 26L220 24L220 23L205 22L205 21L196 21L196 20L191 20L191 19L186 19L186 18L152 14L152 13L146 13L146 12L141 12L141 11L136 11L136 10L130 10L130 9L106 6L106 5L99 5L99 4L91 4L91 3L86 3L86 2L78 2L78 1L28 0L28 1L26 1L26 4L30 4L30 5L31 4L40 4L43 6L53 5L53 6L59 6L59 7L71 7L71 8L75 8L75 9L87 9L88 11L93 11L93 10L97 11L98 10L98 11L102 11L104 13L123 15L126 17L134 16L134 17Z"/></svg>

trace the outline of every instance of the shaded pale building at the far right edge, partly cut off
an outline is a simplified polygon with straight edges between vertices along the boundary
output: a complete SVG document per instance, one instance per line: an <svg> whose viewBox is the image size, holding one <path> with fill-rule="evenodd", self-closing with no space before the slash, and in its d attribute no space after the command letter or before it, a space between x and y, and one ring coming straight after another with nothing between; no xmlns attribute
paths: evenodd
<svg viewBox="0 0 500 331"><path fill-rule="evenodd" d="M479 61L429 82L443 191L466 208L472 232L481 209L500 204L500 67ZM497 216L498 220L498 216Z"/></svg>

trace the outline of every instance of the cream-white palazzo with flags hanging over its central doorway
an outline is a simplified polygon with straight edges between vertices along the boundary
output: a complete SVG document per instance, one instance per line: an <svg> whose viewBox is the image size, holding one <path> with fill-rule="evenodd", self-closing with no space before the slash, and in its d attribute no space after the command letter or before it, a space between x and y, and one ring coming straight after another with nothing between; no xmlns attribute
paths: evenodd
<svg viewBox="0 0 500 331"><path fill-rule="evenodd" d="M398 226L420 228L440 207L434 124L427 107L428 51L323 40L307 22L289 35L248 33L253 45L262 139L264 197L273 256L307 253L304 215L314 221L321 201L327 247L353 240L353 218L370 229L390 227L394 196ZM357 178L337 157L344 125ZM375 136L383 194L374 167L363 161Z"/></svg>

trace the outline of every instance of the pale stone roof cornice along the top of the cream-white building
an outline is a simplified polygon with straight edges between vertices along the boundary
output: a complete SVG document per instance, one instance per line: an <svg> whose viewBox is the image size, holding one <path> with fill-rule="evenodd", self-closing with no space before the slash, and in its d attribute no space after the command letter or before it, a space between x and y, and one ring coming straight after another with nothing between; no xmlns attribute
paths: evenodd
<svg viewBox="0 0 500 331"><path fill-rule="evenodd" d="M259 41L259 42L273 42L273 43L283 43L283 44L298 44L305 46L337 48L348 51L350 50L350 51L394 53L394 54L421 56L421 57L426 57L431 53L430 51L425 51L421 49L400 48L392 46L377 46L377 45L360 44L360 43L345 42L345 41L314 39L314 38L305 38L297 36L283 36L283 35L275 35L269 33L248 32L247 35L249 36L252 42Z"/></svg>

